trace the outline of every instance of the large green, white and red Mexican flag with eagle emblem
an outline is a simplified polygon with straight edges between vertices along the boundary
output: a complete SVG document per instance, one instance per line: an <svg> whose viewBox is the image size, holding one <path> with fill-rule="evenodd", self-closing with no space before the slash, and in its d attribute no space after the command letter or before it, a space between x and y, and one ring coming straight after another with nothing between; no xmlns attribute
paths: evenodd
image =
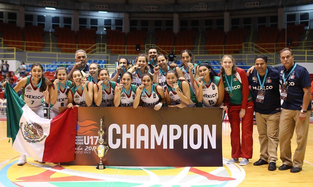
<svg viewBox="0 0 313 187"><path fill-rule="evenodd" d="M77 108L67 108L53 119L39 117L25 104L10 84L7 96L7 137L12 147L44 162L74 160Z"/></svg>

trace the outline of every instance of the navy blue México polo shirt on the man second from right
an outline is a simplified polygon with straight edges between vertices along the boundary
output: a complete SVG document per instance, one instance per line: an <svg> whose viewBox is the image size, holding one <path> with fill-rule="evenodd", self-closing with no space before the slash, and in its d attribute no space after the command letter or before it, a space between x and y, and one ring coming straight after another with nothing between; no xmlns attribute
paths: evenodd
<svg viewBox="0 0 313 187"><path fill-rule="evenodd" d="M278 70L267 67L266 77L260 76L261 84L265 78L264 88L265 97L263 103L256 102L258 91L261 89L257 75L254 70L248 77L249 85L251 85L254 111L260 114L275 114L280 112L280 92L279 92L279 72Z"/></svg>

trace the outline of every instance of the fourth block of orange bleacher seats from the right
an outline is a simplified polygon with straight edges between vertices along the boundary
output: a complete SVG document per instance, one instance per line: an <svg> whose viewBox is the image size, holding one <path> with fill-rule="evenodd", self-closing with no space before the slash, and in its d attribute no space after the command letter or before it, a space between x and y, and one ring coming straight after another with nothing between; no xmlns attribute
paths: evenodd
<svg viewBox="0 0 313 187"><path fill-rule="evenodd" d="M206 30L205 37L207 41L205 48L208 54L222 54L225 41L225 32L221 30ZM221 46L218 46L221 45Z"/></svg>

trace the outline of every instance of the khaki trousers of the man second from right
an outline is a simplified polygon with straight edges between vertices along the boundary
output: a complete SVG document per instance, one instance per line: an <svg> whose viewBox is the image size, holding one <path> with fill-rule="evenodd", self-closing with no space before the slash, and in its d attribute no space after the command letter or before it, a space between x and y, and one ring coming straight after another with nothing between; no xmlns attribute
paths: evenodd
<svg viewBox="0 0 313 187"><path fill-rule="evenodd" d="M275 162L277 158L278 132L280 112L275 114L255 113L259 132L260 158L267 162Z"/></svg>

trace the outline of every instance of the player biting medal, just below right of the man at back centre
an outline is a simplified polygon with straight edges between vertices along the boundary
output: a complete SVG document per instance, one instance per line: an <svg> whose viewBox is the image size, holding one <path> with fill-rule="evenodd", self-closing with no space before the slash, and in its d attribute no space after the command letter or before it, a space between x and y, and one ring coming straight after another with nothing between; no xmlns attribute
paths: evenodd
<svg viewBox="0 0 313 187"><path fill-rule="evenodd" d="M158 55L157 63L158 65L153 69L153 82L162 86L165 92L167 88L166 73L171 69L170 66L167 65L167 56L164 54ZM178 67L173 68L173 70L176 72L178 77L184 77L182 70L180 70Z"/></svg>

